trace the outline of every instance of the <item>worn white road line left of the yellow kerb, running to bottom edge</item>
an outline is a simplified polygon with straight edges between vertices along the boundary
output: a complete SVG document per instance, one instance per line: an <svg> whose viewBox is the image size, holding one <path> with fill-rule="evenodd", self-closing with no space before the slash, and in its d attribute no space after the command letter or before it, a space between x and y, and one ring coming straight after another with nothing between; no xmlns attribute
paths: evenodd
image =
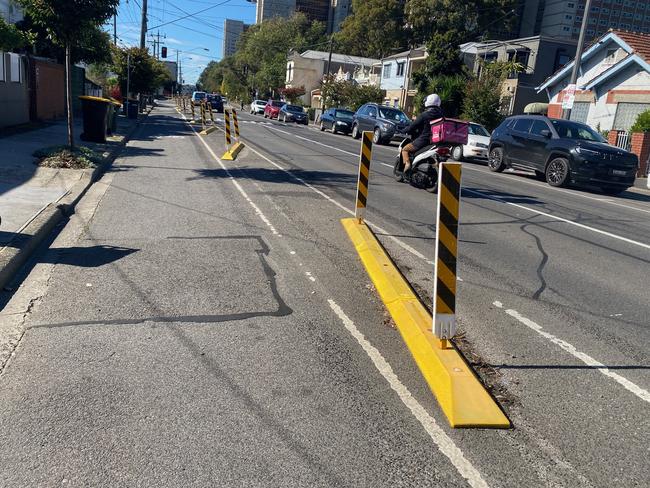
<svg viewBox="0 0 650 488"><path fill-rule="evenodd" d="M375 365L379 373L388 382L390 387L397 393L402 403L411 411L415 418L420 422L424 430L429 434L431 440L438 446L438 449L454 465L458 473L467 480L473 488L488 488L487 482L481 476L481 473L472 465L471 462L463 455L460 448L454 444L454 441L438 425L436 420L429 415L424 407L418 402L406 386L397 377L391 365L384 359L381 353L373 346L357 329L354 322L345 314L334 300L327 300L331 309L339 317L343 326L356 339L363 348L370 360Z"/></svg>

